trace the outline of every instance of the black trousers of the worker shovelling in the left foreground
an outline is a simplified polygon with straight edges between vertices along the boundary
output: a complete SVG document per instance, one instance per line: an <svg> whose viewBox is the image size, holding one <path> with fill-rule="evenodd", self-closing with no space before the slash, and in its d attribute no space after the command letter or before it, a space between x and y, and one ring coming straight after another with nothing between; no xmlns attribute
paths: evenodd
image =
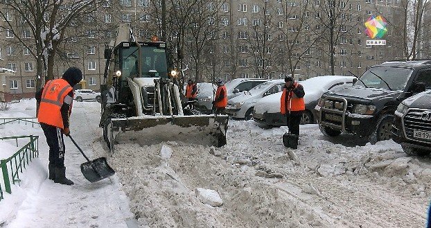
<svg viewBox="0 0 431 228"><path fill-rule="evenodd" d="M49 164L58 168L64 167L64 140L61 128L40 123L49 146Z"/></svg>

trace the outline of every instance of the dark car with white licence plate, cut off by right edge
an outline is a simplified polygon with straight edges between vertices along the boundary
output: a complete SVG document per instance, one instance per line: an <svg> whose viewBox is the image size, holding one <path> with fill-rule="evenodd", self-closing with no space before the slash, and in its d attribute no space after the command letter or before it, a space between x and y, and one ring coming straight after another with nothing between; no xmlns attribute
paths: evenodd
<svg viewBox="0 0 431 228"><path fill-rule="evenodd" d="M425 88L431 89L431 81L426 83ZM392 139L401 144L407 155L431 153L430 90L407 98L398 105L392 124Z"/></svg>

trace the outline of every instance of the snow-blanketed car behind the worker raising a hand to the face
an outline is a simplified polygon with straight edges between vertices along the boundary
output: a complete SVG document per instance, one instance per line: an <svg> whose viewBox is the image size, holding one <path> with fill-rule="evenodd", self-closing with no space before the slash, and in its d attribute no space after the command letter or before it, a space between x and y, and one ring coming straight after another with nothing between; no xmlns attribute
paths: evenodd
<svg viewBox="0 0 431 228"><path fill-rule="evenodd" d="M318 76L299 82L306 92L306 111L302 115L301 124L315 123L315 106L324 91L351 87L354 79L353 76ZM254 105L254 121L269 126L287 125L287 119L280 113L281 94L279 92L258 100Z"/></svg>

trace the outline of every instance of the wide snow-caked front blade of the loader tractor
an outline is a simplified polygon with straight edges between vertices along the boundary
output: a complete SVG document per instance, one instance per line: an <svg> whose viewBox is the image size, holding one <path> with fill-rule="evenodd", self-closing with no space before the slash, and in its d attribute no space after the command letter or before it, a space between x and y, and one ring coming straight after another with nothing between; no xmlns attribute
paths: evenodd
<svg viewBox="0 0 431 228"><path fill-rule="evenodd" d="M226 145L228 116L137 116L112 119L111 150L115 143L152 145L163 141L221 147Z"/></svg>

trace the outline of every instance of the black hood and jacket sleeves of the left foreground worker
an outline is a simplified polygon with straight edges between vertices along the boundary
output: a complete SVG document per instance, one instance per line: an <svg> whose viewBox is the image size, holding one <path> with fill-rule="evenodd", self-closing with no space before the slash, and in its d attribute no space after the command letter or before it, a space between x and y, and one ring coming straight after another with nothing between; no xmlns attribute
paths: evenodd
<svg viewBox="0 0 431 228"><path fill-rule="evenodd" d="M67 71L63 73L62 79L66 80L71 87L74 87L76 84L78 84L78 82L82 80L82 72L77 67L70 67L69 69L67 69ZM38 104L42 99L43 91L44 91L44 87L42 87L42 89L40 89L39 91L36 91L35 98ZM69 94L67 94L64 97L64 102L60 109L64 128L69 128L69 109L72 105L72 100L73 100L73 90L71 90Z"/></svg>

